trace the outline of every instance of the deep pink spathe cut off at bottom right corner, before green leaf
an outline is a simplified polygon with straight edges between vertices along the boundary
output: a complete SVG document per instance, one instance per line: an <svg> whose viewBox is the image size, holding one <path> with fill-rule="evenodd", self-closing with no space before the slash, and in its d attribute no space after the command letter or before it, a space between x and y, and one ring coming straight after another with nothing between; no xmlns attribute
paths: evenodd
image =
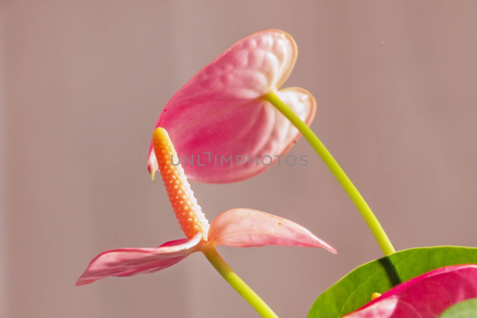
<svg viewBox="0 0 477 318"><path fill-rule="evenodd" d="M477 297L477 265L434 269L385 292L346 318L435 318L453 304Z"/></svg>

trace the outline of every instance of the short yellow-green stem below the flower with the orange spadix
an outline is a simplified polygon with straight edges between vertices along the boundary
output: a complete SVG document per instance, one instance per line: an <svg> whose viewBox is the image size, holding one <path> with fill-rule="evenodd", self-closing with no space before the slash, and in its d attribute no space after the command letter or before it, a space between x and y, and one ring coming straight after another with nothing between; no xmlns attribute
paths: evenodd
<svg viewBox="0 0 477 318"><path fill-rule="evenodd" d="M277 314L257 295L252 288L234 273L220 255L218 255L215 246L207 244L203 246L202 253L207 257L208 261L224 277L232 288L234 288L240 296L242 296L263 318L278 318Z"/></svg>

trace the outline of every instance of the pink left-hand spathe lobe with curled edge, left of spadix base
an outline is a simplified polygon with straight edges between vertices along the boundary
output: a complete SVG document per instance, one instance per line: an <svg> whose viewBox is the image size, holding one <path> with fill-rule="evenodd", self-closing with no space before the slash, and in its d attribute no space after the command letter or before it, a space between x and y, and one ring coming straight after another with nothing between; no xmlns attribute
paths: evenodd
<svg viewBox="0 0 477 318"><path fill-rule="evenodd" d="M117 276L133 276L154 273L172 266L197 251L202 233L167 242L157 248L117 248L104 251L94 257L76 286L91 284L98 279Z"/></svg>

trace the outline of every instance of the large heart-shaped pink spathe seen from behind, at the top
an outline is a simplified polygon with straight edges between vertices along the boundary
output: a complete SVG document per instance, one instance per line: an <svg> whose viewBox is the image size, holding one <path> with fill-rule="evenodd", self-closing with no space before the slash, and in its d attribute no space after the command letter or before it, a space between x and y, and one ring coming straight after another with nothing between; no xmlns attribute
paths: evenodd
<svg viewBox="0 0 477 318"><path fill-rule="evenodd" d="M167 130L189 179L228 183L247 179L281 159L300 137L269 101L276 93L310 125L316 102L310 92L280 89L297 59L293 38L280 30L253 33L197 72L166 104L156 126ZM280 162L279 162L280 163ZM295 163L290 158L288 163ZM148 169L158 169L153 144Z"/></svg>

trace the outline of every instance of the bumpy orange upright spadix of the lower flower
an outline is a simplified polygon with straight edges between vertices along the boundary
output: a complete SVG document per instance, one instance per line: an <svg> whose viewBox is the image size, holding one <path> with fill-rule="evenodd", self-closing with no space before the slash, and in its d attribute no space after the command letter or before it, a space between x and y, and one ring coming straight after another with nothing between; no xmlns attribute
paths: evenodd
<svg viewBox="0 0 477 318"><path fill-rule="evenodd" d="M187 238L202 232L207 241L208 221L190 189L184 169L178 164L176 150L169 135L164 128L159 127L154 131L152 139L159 171L180 228Z"/></svg>

